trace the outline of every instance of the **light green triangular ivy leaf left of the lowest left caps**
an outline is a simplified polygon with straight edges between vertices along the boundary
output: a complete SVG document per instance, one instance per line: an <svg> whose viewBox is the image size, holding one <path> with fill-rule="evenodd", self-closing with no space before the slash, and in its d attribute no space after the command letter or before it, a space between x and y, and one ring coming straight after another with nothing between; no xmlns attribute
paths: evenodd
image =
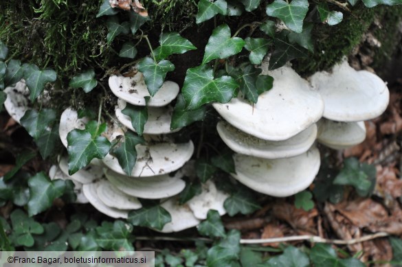
<svg viewBox="0 0 402 267"><path fill-rule="evenodd" d="M65 181L57 179L50 181L43 172L39 172L28 180L30 186L30 200L28 201L28 214L34 216L49 207L53 200L63 196Z"/></svg>

